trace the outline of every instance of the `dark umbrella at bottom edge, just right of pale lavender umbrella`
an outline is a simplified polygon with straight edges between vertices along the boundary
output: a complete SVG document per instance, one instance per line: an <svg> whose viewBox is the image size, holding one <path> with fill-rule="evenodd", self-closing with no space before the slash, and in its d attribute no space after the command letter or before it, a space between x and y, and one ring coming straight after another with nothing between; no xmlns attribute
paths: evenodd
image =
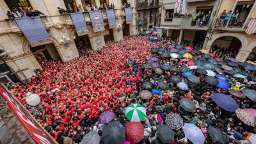
<svg viewBox="0 0 256 144"><path fill-rule="evenodd" d="M208 133L211 136L212 143L228 144L227 138L219 128L210 125Z"/></svg>

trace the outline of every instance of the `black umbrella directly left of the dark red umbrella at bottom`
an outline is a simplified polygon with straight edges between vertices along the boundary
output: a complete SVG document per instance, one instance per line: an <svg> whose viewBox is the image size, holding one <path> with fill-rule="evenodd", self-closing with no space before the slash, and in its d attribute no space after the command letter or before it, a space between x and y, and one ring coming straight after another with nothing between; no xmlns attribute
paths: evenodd
<svg viewBox="0 0 256 144"><path fill-rule="evenodd" d="M125 140L125 127L119 121L109 122L102 130L104 144L122 143Z"/></svg>

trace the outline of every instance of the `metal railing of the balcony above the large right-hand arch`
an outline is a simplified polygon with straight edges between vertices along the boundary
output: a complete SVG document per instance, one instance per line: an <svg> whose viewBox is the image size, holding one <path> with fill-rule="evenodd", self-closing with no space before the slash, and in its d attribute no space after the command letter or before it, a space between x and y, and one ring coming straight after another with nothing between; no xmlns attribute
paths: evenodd
<svg viewBox="0 0 256 144"><path fill-rule="evenodd" d="M246 18L218 19L216 28L243 28Z"/></svg>

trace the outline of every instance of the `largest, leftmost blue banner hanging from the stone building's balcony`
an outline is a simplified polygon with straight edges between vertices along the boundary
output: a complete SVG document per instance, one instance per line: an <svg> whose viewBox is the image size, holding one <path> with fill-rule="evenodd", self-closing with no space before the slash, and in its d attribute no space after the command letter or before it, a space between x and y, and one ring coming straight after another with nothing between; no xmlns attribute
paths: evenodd
<svg viewBox="0 0 256 144"><path fill-rule="evenodd" d="M31 47L51 43L51 38L40 17L15 18L15 21L26 36Z"/></svg>

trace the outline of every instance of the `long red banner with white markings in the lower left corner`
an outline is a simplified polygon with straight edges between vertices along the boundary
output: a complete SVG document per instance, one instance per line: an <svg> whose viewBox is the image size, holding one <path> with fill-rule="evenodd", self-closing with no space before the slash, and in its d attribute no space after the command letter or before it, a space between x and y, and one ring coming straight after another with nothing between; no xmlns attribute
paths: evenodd
<svg viewBox="0 0 256 144"><path fill-rule="evenodd" d="M30 115L30 113L15 99L9 92L3 88L0 84L0 95L6 101L13 114L18 118L20 123L24 126L29 135L38 144L54 144L57 143L49 134L44 131L44 128L40 126Z"/></svg>

